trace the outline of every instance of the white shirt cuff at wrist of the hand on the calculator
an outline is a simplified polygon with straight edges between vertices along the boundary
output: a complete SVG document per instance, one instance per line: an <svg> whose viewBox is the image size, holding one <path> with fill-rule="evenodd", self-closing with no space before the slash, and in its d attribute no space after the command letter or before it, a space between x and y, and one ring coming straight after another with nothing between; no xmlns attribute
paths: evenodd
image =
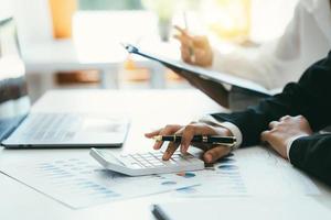
<svg viewBox="0 0 331 220"><path fill-rule="evenodd" d="M228 129L231 133L236 138L236 145L234 148L238 148L241 144L243 143L243 134L237 125L231 122L220 122L216 119L214 119L212 116L206 116L203 117L202 119L199 120L200 122L205 122L205 123L212 123L216 124L218 127L223 127L225 129Z"/></svg>

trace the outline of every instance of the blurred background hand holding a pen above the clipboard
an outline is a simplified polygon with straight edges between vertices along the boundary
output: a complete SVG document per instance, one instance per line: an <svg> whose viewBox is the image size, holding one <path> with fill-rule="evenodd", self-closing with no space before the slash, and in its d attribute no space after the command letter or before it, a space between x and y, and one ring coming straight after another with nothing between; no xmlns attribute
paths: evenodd
<svg viewBox="0 0 331 220"><path fill-rule="evenodd" d="M174 35L181 43L181 56L185 63L207 67L213 63L213 51L206 36L191 35L188 29L174 26Z"/></svg>

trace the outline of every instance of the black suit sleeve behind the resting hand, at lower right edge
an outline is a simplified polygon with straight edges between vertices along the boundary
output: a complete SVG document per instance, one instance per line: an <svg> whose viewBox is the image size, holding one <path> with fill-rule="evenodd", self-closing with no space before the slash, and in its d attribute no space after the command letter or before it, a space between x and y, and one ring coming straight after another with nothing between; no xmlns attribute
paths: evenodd
<svg viewBox="0 0 331 220"><path fill-rule="evenodd" d="M331 134L296 140L290 148L291 163L331 185Z"/></svg>

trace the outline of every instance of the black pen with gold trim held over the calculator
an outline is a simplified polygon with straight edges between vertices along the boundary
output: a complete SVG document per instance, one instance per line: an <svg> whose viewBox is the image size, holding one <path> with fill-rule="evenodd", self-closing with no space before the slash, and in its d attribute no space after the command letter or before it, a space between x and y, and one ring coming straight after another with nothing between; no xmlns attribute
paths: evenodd
<svg viewBox="0 0 331 220"><path fill-rule="evenodd" d="M171 141L171 142L181 142L181 135L157 135L153 136L156 141ZM235 145L235 136L218 136L218 135L194 135L192 141L194 143L205 143L205 144L222 144L222 145Z"/></svg>

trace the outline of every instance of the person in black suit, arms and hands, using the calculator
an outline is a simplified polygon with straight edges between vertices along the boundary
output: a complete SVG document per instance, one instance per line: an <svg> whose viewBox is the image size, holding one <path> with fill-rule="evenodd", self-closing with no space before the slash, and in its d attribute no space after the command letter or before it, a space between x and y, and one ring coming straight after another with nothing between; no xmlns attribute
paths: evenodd
<svg viewBox="0 0 331 220"><path fill-rule="evenodd" d="M181 143L168 145L163 160L169 160L179 146L185 153L196 134L236 136L237 144L233 148L199 145L205 150L206 163L217 161L236 147L266 142L296 167L331 185L331 134L319 133L328 125L331 125L331 52L310 66L298 82L288 84L281 94L258 106L239 112L211 114L188 125L167 125L146 136L183 136ZM156 142L153 147L161 145L162 142Z"/></svg>

